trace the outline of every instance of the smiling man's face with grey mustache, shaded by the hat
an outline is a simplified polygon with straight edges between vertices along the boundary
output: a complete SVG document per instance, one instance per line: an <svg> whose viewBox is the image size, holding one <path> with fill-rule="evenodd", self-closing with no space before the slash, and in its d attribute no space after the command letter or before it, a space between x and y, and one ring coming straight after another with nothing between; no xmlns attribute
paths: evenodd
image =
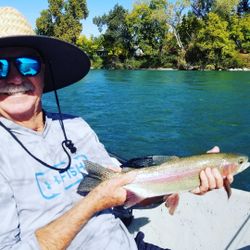
<svg viewBox="0 0 250 250"><path fill-rule="evenodd" d="M40 57L37 51L30 48L0 48L0 58L22 56ZM11 61L8 76L0 78L0 115L20 121L41 111L44 65L37 75L23 76Z"/></svg>

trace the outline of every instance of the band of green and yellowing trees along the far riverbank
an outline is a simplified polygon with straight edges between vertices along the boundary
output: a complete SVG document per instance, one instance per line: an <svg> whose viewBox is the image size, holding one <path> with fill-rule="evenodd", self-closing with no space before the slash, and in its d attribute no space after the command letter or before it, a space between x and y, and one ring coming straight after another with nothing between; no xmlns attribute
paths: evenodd
<svg viewBox="0 0 250 250"><path fill-rule="evenodd" d="M249 0L136 0L116 4L93 22L101 34L84 36L86 0L48 0L37 33L76 44L93 68L250 67Z"/></svg>

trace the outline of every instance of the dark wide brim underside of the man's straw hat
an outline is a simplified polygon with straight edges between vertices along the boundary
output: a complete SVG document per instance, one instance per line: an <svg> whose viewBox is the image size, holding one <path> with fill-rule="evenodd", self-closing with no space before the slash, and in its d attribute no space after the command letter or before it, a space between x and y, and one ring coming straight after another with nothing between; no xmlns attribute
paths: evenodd
<svg viewBox="0 0 250 250"><path fill-rule="evenodd" d="M90 69L90 60L82 50L52 37L36 35L2 37L0 47L29 47L41 54L45 60L44 93L81 80ZM49 64L53 76L48 68Z"/></svg>

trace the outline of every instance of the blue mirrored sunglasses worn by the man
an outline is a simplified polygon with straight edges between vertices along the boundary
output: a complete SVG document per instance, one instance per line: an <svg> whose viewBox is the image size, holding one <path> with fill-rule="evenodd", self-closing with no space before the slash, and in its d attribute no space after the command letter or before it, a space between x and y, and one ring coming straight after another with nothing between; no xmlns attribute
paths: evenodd
<svg viewBox="0 0 250 250"><path fill-rule="evenodd" d="M35 76L41 70L41 61L36 57L0 58L0 79L8 77L11 62L22 76Z"/></svg>

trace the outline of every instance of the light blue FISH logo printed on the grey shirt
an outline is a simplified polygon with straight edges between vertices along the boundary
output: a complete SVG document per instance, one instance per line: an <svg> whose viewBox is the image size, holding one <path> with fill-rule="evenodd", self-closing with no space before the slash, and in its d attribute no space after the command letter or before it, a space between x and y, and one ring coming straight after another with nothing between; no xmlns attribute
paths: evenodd
<svg viewBox="0 0 250 250"><path fill-rule="evenodd" d="M83 175L87 174L84 160L87 160L85 155L73 157L71 167L63 173L51 169L36 173L36 182L42 197L47 200L53 199L59 196L62 190L71 189L79 184ZM54 167L63 168L66 164L66 162L60 162Z"/></svg>

